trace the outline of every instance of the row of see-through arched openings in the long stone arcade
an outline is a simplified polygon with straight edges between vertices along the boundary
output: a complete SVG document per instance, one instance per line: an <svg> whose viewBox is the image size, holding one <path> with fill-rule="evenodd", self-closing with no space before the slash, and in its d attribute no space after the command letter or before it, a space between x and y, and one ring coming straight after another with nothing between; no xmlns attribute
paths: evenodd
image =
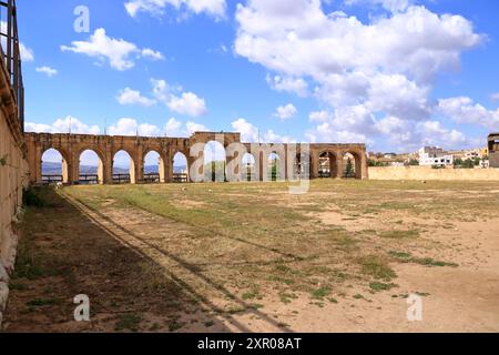
<svg viewBox="0 0 499 355"><path fill-rule="evenodd" d="M316 178L343 178L361 179L361 159L355 152L346 152L339 155L332 151L322 152L318 155L318 176ZM104 168L102 158L93 150L85 150L79 158L79 182L82 184L100 184L104 182ZM165 162L156 151L149 151L143 159L143 180L146 183L159 183L166 181L164 176ZM257 166L257 164L262 164ZM265 165L265 166L263 166ZM251 153L246 153L242 159L240 170L241 181L283 181L286 179L304 178L306 172L312 170L312 158L297 154L294 160L293 176L286 172L286 159L279 153L273 152L263 158L263 162ZM171 172L173 182L189 182L187 158L177 152L173 158ZM227 156L224 146L218 142L208 142L204 149L204 172L205 181L226 181ZM259 171L264 171L266 176L261 176ZM112 178L114 183L136 183L135 162L124 150L114 154L112 160ZM68 162L64 156L54 149L49 149L42 155L42 181L43 182L69 182ZM264 178L264 179L262 179ZM310 178L310 176L308 176Z"/></svg>

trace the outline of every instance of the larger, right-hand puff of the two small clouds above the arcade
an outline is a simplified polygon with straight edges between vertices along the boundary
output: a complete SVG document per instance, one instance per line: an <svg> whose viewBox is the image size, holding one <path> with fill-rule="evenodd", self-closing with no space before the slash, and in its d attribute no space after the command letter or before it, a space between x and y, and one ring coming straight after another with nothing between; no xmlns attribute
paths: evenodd
<svg viewBox="0 0 499 355"><path fill-rule="evenodd" d="M190 116L201 116L207 113L206 101L193 92L176 93L181 88L171 88L164 80L151 80L156 100L176 113Z"/></svg>

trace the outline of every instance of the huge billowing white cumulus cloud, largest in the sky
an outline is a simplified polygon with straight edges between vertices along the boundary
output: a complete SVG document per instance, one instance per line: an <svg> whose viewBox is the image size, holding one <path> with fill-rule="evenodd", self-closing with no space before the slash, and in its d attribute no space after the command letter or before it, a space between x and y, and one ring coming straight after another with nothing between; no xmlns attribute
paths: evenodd
<svg viewBox="0 0 499 355"><path fill-rule="evenodd" d="M235 52L271 71L274 90L299 94L305 84L315 87L314 95L330 113L310 116L317 123L307 132L310 140L373 142L389 122L422 134L436 110L429 99L432 79L458 69L460 54L483 36L461 16L437 14L413 1L347 2L369 2L389 13L367 23L325 13L320 0L297 0L293 7L286 0L248 0L237 6ZM408 144L422 138L399 134Z"/></svg>

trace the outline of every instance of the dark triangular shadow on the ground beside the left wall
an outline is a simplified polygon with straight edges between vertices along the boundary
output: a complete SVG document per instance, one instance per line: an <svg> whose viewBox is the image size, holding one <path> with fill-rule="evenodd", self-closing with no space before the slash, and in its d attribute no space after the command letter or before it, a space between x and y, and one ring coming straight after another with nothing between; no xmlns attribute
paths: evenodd
<svg viewBox="0 0 499 355"><path fill-rule="evenodd" d="M228 331L196 290L55 191L38 193L43 206L26 214L4 332ZM91 322L74 321L79 294L90 297Z"/></svg>

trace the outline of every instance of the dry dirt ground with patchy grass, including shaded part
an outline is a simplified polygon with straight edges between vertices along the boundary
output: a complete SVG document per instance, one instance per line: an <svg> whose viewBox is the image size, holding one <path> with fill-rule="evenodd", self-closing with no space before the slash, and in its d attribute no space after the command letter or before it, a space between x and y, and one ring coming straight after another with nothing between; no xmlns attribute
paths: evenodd
<svg viewBox="0 0 499 355"><path fill-rule="evenodd" d="M498 183L287 187L38 191L3 332L499 331Z"/></svg>

